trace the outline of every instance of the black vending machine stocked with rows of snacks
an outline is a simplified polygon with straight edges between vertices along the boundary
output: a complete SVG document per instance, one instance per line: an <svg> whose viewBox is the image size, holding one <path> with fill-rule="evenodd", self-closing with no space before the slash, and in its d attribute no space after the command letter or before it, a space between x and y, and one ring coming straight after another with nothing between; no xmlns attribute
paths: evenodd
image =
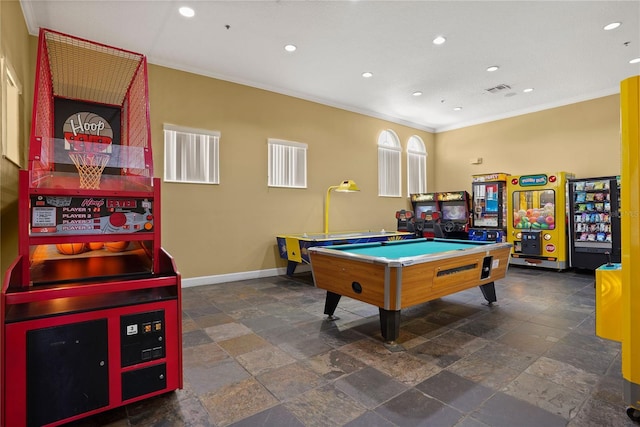
<svg viewBox="0 0 640 427"><path fill-rule="evenodd" d="M573 268L620 262L620 178L570 179L569 255Z"/></svg>

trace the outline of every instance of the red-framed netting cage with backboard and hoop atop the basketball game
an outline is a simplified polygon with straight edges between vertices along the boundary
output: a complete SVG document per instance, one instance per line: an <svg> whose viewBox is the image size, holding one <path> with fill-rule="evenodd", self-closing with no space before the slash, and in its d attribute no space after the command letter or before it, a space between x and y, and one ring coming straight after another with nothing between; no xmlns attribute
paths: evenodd
<svg viewBox="0 0 640 427"><path fill-rule="evenodd" d="M41 29L31 126L31 187L152 185L144 55Z"/></svg>

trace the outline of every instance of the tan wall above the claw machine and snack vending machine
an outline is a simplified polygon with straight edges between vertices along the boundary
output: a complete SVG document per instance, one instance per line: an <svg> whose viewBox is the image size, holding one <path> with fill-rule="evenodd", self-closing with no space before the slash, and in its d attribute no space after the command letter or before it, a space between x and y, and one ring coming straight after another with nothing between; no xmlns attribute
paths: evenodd
<svg viewBox="0 0 640 427"><path fill-rule="evenodd" d="M619 175L620 96L441 132L436 150L433 191L471 191L471 175L492 172Z"/></svg>

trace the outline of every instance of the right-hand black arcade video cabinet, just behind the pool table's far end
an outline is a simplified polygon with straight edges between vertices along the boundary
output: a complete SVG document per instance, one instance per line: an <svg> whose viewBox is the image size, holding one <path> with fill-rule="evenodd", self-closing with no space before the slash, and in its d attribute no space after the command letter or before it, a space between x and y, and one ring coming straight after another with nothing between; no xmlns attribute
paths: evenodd
<svg viewBox="0 0 640 427"><path fill-rule="evenodd" d="M450 191L438 193L440 220L444 237L447 239L469 239L471 206L469 193Z"/></svg>

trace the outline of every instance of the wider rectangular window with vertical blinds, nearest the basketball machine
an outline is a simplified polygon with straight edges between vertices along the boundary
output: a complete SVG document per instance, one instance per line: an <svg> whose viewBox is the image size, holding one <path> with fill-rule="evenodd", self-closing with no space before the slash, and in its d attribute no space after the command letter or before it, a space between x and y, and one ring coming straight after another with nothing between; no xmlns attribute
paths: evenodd
<svg viewBox="0 0 640 427"><path fill-rule="evenodd" d="M164 180L220 184L220 132L164 125Z"/></svg>

